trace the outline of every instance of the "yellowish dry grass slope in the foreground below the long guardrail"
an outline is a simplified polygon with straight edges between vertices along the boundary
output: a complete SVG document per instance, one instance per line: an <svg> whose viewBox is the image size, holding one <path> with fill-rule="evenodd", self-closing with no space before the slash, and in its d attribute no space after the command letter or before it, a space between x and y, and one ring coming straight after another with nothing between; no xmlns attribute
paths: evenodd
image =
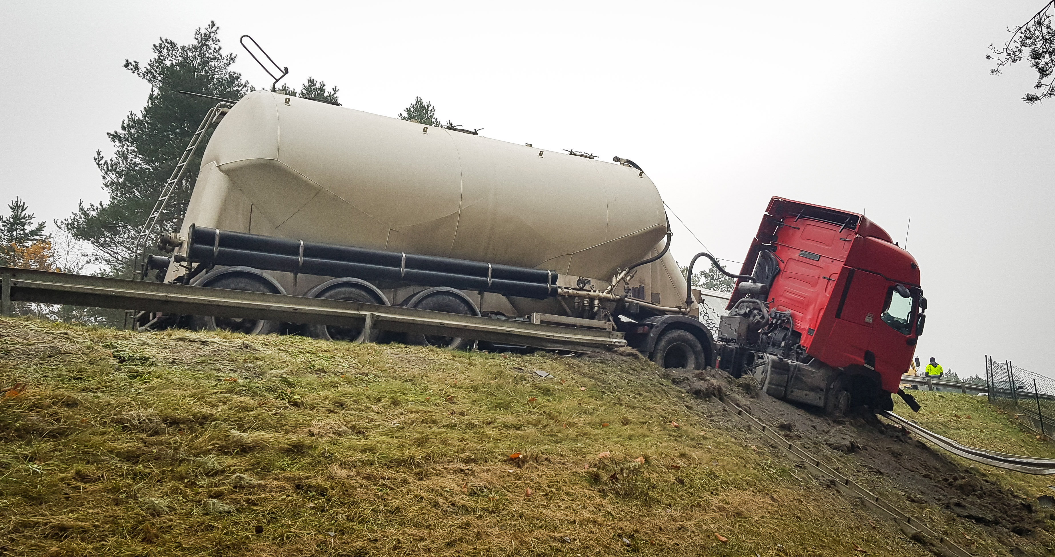
<svg viewBox="0 0 1055 557"><path fill-rule="evenodd" d="M0 553L926 554L659 372L2 319Z"/></svg>

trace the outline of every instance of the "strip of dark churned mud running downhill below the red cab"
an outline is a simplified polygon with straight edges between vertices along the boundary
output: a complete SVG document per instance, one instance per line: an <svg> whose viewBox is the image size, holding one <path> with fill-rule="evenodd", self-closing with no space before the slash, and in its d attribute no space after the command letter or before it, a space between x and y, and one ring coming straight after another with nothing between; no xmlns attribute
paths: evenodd
<svg viewBox="0 0 1055 557"><path fill-rule="evenodd" d="M927 505L944 510L955 516L954 520L987 530L1013 555L1034 554L1020 546L1039 541L1035 539L1037 531L1049 528L1044 522L1048 512L1036 501L1016 495L977 468L957 462L952 455L931 449L867 412L851 418L827 418L820 409L761 394L752 378L733 379L713 369L670 372L676 385L707 401L701 410L716 426L735 432L744 440L767 444L716 400L728 398L778 427L783 437L839 464L842 474L902 504L909 514L919 514L914 511L922 512Z"/></svg>

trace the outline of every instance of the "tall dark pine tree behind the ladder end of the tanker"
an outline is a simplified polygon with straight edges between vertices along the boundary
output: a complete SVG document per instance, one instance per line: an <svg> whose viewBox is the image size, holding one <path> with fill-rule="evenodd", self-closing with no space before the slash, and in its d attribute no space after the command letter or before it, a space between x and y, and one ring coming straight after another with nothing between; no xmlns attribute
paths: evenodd
<svg viewBox="0 0 1055 557"><path fill-rule="evenodd" d="M194 32L191 44L162 38L146 64L124 61L126 69L151 84L147 105L138 114L129 113L119 131L107 134L114 144L113 157L96 152L108 199L88 205L81 201L77 212L63 221L77 239L92 244L95 262L108 266L110 275L130 274L136 235L202 118L216 103L178 92L238 100L249 91L242 76L231 71L235 57L224 54L218 34L219 27L210 22ZM203 151L189 161L158 220L158 233L179 225Z"/></svg>

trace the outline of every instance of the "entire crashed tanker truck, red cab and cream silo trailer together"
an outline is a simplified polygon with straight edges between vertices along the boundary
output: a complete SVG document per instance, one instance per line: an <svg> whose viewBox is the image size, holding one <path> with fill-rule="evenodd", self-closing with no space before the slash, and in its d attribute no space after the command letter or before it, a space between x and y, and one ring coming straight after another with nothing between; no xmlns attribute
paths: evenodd
<svg viewBox="0 0 1055 557"><path fill-rule="evenodd" d="M788 206L803 207L793 218L810 223L810 234L818 226L838 228L831 232L839 237L833 251L810 252L825 258L828 273L816 278L812 291L791 286L798 259L779 247L789 241L783 228L802 226L771 224L792 218L780 213ZM757 375L767 392L788 400L835 409L851 400L884 405L884 393L889 400L896 382L879 376L890 366L904 370L912 350L901 364L905 350L888 354L866 342L860 354L842 359L836 349L824 352L823 358L836 358L829 361L816 353L823 345L817 335L843 330L816 329L827 321L811 319L832 307L828 297L849 284L845 272L831 270L855 260L838 259L837 252L857 254L847 246L860 238L862 245L885 246L889 237L861 216L808 207L774 198L770 210L778 213L764 217L753 259L742 275L730 275L740 282L721 330L732 333L714 338L698 319L699 291L690 287L669 251L672 233L656 186L632 161L606 162L257 91L226 111L203 155L178 234L159 240L172 255L150 257L147 268L166 282L196 286L613 331L664 367L718 364L733 375ZM916 289L906 292L921 300L915 294L918 273L884 275L885 264L872 270L877 276L901 281L899 296L900 289ZM769 293L778 298L767 298ZM868 303L882 305L884 294L861 296L878 296ZM805 296L806 305L792 302L797 296ZM857 294L842 297L857 300ZM141 319L155 326L165 322L158 316ZM472 338L261 319L166 319L247 334L299 329L330 340L476 344ZM790 386L780 391L782 384Z"/></svg>

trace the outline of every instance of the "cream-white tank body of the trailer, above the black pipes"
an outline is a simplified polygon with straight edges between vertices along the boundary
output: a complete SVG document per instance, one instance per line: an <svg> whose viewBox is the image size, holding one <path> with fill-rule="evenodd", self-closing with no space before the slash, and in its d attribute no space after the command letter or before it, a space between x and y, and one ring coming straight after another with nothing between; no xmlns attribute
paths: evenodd
<svg viewBox="0 0 1055 557"><path fill-rule="evenodd" d="M209 141L192 223L600 280L667 233L631 166L265 91Z"/></svg>

